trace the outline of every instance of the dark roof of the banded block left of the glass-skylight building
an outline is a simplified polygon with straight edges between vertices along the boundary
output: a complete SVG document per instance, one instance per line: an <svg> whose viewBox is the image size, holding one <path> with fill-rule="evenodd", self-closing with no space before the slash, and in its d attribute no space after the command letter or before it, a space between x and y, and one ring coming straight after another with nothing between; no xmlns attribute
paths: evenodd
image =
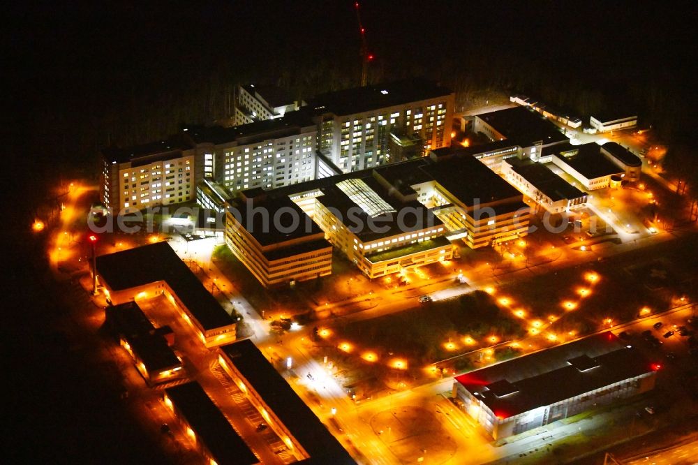
<svg viewBox="0 0 698 465"><path fill-rule="evenodd" d="M253 198L238 199L229 211L262 247L322 233L288 196L260 193Z"/></svg>

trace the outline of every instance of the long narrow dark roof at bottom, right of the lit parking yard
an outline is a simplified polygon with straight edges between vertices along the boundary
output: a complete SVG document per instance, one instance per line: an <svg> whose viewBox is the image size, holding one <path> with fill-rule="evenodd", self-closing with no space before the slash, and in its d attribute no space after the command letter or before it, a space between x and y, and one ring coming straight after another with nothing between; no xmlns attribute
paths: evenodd
<svg viewBox="0 0 698 465"><path fill-rule="evenodd" d="M303 463L356 464L252 341L245 339L221 350L308 452L310 459Z"/></svg>

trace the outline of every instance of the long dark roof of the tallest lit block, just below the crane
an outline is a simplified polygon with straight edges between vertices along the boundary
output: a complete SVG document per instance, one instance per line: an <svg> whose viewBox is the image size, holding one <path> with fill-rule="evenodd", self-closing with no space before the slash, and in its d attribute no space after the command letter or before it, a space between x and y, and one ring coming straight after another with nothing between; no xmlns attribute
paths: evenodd
<svg viewBox="0 0 698 465"><path fill-rule="evenodd" d="M410 102L418 102L448 96L450 89L420 78L354 87L327 94L320 94L309 101L309 108L318 113L332 112L334 115L352 115L388 108Z"/></svg>

